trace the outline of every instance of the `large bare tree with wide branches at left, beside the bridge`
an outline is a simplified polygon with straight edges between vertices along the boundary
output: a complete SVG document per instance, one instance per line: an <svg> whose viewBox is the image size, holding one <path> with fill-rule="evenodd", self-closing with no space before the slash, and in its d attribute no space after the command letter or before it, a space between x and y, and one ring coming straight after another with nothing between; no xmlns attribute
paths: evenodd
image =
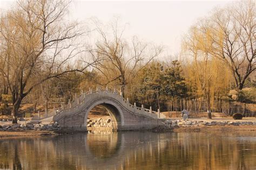
<svg viewBox="0 0 256 170"><path fill-rule="evenodd" d="M68 6L62 0L21 0L0 18L0 71L12 95L14 123L23 98L33 88L77 70L64 69L83 52L76 40L84 32L78 23L65 19Z"/></svg>

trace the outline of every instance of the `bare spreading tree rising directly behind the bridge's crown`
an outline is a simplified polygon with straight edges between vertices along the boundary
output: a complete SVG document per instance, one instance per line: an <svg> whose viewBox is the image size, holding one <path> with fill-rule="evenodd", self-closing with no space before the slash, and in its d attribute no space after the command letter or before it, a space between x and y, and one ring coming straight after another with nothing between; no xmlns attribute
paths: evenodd
<svg viewBox="0 0 256 170"><path fill-rule="evenodd" d="M94 23L99 41L90 52L93 58L101 59L95 68L106 78L102 85L118 82L124 95L128 81L156 58L163 51L163 47L143 43L137 37L133 37L131 42L126 41L123 38L125 27L118 26L118 19L111 24L110 34L104 31L98 20Z"/></svg>

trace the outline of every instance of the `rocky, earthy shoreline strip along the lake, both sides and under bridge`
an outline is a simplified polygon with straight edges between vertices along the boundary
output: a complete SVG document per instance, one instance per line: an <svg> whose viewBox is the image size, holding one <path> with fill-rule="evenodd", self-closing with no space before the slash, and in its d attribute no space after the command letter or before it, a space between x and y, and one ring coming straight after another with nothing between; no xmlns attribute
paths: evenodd
<svg viewBox="0 0 256 170"><path fill-rule="evenodd" d="M97 119L98 120L98 119ZM71 131L62 129L58 124L11 124L2 122L0 124L0 140L3 138L20 138L20 137L43 137L58 136L62 134L87 133L92 132L112 132L108 126L91 125L92 121L87 121L87 131ZM99 121L100 122L100 121ZM100 122L102 123L102 122ZM97 123L95 123L97 124ZM90 126L91 125L91 126ZM131 130L134 131L134 130ZM256 132L256 118L244 118L242 120L234 120L231 118L189 118L182 121L180 118L167 119L163 126L154 129L140 129L138 131L152 132Z"/></svg>

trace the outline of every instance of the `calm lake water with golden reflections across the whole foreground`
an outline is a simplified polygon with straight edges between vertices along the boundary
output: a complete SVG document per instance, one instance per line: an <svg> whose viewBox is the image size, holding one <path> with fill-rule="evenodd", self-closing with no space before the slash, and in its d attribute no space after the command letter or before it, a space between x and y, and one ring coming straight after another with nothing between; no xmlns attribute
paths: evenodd
<svg viewBox="0 0 256 170"><path fill-rule="evenodd" d="M0 139L0 169L256 169L255 132L104 133Z"/></svg>

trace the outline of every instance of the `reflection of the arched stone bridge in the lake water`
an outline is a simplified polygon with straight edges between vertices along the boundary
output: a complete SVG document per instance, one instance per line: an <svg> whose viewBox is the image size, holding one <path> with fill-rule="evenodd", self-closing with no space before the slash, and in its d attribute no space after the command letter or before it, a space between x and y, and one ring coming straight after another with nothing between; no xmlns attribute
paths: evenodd
<svg viewBox="0 0 256 170"><path fill-rule="evenodd" d="M81 143L79 146L72 145L68 152L71 152L70 157L73 160L76 160L77 156L86 155L85 159L79 160L79 165L89 169L96 167L97 169L104 169L106 165L108 169L122 169L124 162L136 160L137 154L142 154L140 157L146 159L149 157L147 154L151 154L151 156L160 154L160 151L166 147L164 134L147 132L149 136L145 136L142 135L143 133L145 132L80 134L78 138L80 138ZM66 148L63 145L55 145L55 150L62 150L63 147Z"/></svg>

